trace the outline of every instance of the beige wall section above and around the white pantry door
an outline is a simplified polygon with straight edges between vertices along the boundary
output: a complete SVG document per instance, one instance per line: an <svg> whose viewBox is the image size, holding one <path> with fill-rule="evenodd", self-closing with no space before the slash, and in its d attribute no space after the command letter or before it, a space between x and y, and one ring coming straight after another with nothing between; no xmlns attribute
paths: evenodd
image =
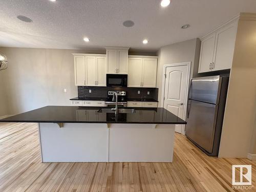
<svg viewBox="0 0 256 192"><path fill-rule="evenodd" d="M200 39L195 38L164 46L158 51L157 88L159 88L159 106L162 102L163 66L172 63L191 61L190 77L195 77L198 73L200 45Z"/></svg>

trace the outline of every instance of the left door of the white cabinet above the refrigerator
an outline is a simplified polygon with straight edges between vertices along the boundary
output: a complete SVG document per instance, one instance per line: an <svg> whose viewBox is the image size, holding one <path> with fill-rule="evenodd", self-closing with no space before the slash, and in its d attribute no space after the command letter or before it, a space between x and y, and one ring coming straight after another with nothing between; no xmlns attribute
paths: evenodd
<svg viewBox="0 0 256 192"><path fill-rule="evenodd" d="M202 39L198 73L211 71L210 63L214 57L215 33Z"/></svg>

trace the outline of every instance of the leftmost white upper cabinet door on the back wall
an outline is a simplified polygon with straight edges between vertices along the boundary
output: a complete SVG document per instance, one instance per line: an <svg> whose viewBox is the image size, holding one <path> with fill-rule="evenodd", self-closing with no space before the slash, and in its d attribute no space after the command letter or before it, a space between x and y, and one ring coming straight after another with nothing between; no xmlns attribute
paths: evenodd
<svg viewBox="0 0 256 192"><path fill-rule="evenodd" d="M86 63L84 56L74 56L75 63L75 85L84 86L86 84Z"/></svg>

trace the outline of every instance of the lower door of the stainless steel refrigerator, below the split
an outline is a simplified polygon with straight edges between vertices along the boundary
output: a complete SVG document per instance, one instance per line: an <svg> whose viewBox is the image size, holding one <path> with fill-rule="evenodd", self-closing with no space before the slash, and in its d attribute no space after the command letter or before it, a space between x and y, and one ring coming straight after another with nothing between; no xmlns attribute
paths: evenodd
<svg viewBox="0 0 256 192"><path fill-rule="evenodd" d="M217 104L188 100L186 136L212 153L216 130Z"/></svg>

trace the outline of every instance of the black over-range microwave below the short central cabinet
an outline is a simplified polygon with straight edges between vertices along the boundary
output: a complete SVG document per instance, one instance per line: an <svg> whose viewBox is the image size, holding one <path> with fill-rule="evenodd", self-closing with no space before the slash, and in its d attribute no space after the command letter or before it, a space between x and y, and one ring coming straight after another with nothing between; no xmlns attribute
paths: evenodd
<svg viewBox="0 0 256 192"><path fill-rule="evenodd" d="M106 86L127 87L127 75L126 74L106 74Z"/></svg>

